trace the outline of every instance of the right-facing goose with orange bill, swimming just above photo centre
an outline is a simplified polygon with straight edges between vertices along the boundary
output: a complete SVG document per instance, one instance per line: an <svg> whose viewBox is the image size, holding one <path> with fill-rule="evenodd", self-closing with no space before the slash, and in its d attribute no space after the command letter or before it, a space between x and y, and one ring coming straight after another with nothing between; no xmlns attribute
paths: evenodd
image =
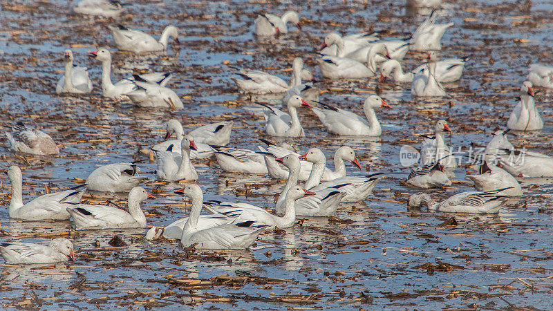
<svg viewBox="0 0 553 311"><path fill-rule="evenodd" d="M366 119L353 112L326 104L321 104L320 108L312 107L311 109L319 117L324 127L332 134L379 136L382 134L382 129L374 110L377 107L392 108L378 95L369 95L363 104Z"/></svg>

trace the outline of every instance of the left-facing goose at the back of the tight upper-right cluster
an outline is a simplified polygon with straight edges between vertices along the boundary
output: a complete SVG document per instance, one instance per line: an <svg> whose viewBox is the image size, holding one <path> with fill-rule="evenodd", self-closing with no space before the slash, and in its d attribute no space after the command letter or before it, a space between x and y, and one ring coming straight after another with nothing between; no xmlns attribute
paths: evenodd
<svg viewBox="0 0 553 311"><path fill-rule="evenodd" d="M377 32L360 32L344 37L341 37L338 32L331 32L326 35L319 50L323 55L341 56L338 54L338 45L341 46L340 53L346 55L377 40Z"/></svg>

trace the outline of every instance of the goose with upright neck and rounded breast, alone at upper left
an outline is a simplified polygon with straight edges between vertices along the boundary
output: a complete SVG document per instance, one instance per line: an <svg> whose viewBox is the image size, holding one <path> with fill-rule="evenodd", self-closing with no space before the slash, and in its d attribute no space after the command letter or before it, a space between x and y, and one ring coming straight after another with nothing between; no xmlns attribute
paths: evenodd
<svg viewBox="0 0 553 311"><path fill-rule="evenodd" d="M65 73L59 78L56 93L91 93L92 80L88 77L88 68L73 66L73 52L64 52Z"/></svg>

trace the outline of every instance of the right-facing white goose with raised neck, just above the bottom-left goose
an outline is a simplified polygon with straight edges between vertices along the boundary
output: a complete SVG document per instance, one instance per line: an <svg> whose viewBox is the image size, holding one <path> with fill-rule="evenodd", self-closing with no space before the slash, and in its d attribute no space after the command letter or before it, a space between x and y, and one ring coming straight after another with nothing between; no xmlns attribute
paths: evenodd
<svg viewBox="0 0 553 311"><path fill-rule="evenodd" d="M105 205L77 204L68 207L73 225L77 230L145 228L146 216L140 203L148 198L155 198L142 187L134 187L129 192L129 212Z"/></svg>

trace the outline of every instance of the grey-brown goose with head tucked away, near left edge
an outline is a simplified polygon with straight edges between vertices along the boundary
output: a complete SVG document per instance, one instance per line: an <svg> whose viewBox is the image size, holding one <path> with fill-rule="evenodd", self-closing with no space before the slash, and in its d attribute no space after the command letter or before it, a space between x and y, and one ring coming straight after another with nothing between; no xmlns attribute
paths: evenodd
<svg viewBox="0 0 553 311"><path fill-rule="evenodd" d="M37 156L54 156L59 154L59 149L50 135L32 129L22 122L12 127L12 133L6 133L10 150L15 152L31 153Z"/></svg>

